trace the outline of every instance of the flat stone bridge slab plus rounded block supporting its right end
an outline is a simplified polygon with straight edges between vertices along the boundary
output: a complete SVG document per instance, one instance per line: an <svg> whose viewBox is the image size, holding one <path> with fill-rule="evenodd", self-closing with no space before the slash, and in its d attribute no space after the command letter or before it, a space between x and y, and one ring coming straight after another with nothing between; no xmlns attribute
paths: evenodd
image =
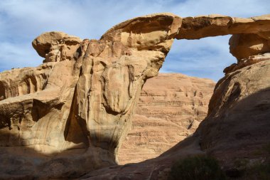
<svg viewBox="0 0 270 180"><path fill-rule="evenodd" d="M234 34L229 52L238 60L270 51L270 14L253 18L234 18L212 14L183 18L177 39L199 39Z"/></svg>

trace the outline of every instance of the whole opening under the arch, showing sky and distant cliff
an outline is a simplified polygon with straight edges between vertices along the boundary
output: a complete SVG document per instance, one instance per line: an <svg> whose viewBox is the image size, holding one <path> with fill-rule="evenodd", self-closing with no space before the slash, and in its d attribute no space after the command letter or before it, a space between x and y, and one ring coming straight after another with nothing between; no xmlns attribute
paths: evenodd
<svg viewBox="0 0 270 180"><path fill-rule="evenodd" d="M160 73L142 89L132 127L118 151L119 164L158 157L195 132L207 115L215 82L235 62L230 37L173 42Z"/></svg>

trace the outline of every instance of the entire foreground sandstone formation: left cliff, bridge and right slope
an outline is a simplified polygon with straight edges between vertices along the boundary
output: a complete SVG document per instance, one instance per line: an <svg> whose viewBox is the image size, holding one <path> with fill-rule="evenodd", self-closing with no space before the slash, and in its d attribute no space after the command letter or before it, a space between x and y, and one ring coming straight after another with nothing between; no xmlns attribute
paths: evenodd
<svg viewBox="0 0 270 180"><path fill-rule="evenodd" d="M92 171L82 179L157 179L187 154L207 152L220 161L226 154L225 163L235 152L249 157L270 139L269 27L270 15L153 14L120 23L98 41L42 34L33 47L45 56L43 65L0 75L1 178L59 179ZM158 74L173 39L229 33L238 61L225 69L195 135L158 159L100 169L117 163L141 88Z"/></svg>

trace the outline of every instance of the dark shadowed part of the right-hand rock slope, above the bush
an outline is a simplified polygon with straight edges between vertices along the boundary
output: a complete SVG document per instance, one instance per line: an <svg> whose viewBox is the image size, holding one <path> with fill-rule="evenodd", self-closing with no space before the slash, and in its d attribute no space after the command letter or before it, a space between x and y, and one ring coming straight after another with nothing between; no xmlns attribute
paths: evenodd
<svg viewBox="0 0 270 180"><path fill-rule="evenodd" d="M92 171L80 179L166 179L166 174L173 162L197 154L209 154L216 157L225 171L227 171L226 169L231 171L237 159L248 159L248 163L254 163L256 160L257 162L265 161L270 157L270 152L264 149L266 144L270 144L269 93L270 88L266 88L244 97L230 109L234 113L237 110L237 118L206 119L192 137L184 139L155 159L148 159L137 164L110 166L106 169ZM240 107L242 111L239 111ZM210 126L208 123L212 125ZM220 126L225 128L218 128ZM205 129L217 131L217 134L215 136L202 134ZM239 137L239 134L242 136ZM249 134L248 138L247 134ZM216 146L201 148L206 135L212 136L211 139L215 140ZM255 154L254 152L258 150L260 150L260 154Z"/></svg>

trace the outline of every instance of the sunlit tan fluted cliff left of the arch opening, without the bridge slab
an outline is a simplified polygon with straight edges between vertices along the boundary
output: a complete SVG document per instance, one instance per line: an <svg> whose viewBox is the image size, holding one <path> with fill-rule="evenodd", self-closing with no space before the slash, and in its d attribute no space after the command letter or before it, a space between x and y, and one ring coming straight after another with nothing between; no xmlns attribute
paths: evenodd
<svg viewBox="0 0 270 180"><path fill-rule="evenodd" d="M1 73L1 176L72 177L116 164L142 85L158 74L180 21L134 18L99 41L38 36L44 64Z"/></svg>

